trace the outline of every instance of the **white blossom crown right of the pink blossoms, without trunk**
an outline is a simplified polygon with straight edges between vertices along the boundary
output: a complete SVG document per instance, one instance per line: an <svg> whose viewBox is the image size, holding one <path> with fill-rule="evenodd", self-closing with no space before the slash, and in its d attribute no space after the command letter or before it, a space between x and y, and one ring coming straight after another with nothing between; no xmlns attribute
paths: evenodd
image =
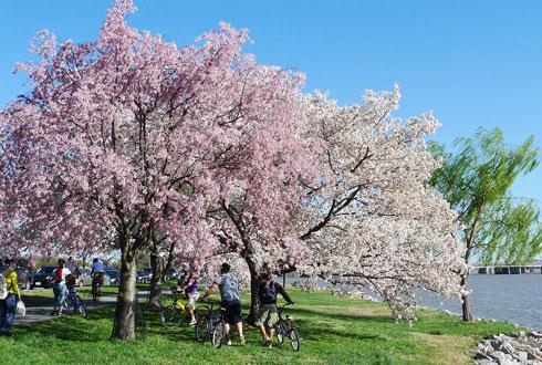
<svg viewBox="0 0 542 365"><path fill-rule="evenodd" d="M327 175L309 185L296 222L310 248L298 270L379 295L396 319L413 319L416 288L463 291L457 215L426 181L438 161L425 148L438 126L427 113L392 116L399 91L366 92L362 105L306 98L310 133L323 140Z"/></svg>

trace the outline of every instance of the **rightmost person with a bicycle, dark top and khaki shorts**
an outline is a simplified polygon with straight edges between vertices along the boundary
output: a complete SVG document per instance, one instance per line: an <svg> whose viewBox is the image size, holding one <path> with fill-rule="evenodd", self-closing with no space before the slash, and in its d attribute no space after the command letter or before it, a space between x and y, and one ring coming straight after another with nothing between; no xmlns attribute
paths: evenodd
<svg viewBox="0 0 542 365"><path fill-rule="evenodd" d="M273 280L271 273L264 272L262 274L262 281L258 285L258 298L260 299L261 306L257 325L260 327L263 336L263 345L270 348L273 346L274 325L279 322L277 293L280 293L289 304L294 303L284 288Z"/></svg>

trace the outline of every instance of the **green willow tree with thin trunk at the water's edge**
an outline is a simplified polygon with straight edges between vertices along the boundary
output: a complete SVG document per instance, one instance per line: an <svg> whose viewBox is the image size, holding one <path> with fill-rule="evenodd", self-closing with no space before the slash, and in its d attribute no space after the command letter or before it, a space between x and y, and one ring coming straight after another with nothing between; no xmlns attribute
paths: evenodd
<svg viewBox="0 0 542 365"><path fill-rule="evenodd" d="M465 262L521 264L542 251L538 205L510 192L519 175L539 165L533 140L531 136L509 148L499 128L479 128L472 137L456 139L454 152L429 143L431 153L442 159L429 184L459 215L463 227L459 234L467 246ZM461 277L463 285L467 278L468 272ZM462 301L462 319L471 321L468 296Z"/></svg>

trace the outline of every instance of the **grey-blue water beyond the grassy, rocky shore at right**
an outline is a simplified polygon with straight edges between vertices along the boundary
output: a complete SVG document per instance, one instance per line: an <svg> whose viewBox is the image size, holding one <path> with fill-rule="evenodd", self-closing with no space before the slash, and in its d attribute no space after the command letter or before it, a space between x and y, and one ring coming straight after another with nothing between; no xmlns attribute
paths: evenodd
<svg viewBox="0 0 542 365"><path fill-rule="evenodd" d="M470 275L472 293L469 304L473 317L509 321L542 331L542 274ZM461 313L459 300L441 300L428 292L419 293L425 306Z"/></svg>

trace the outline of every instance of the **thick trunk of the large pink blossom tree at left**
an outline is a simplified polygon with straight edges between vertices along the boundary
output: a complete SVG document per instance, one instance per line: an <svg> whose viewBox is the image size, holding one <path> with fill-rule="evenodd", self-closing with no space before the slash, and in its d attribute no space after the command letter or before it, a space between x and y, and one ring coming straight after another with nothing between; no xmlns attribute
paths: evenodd
<svg viewBox="0 0 542 365"><path fill-rule="evenodd" d="M121 258L121 286L118 288L117 307L113 338L135 338L135 305L137 301L136 291L137 269L134 252L127 248L127 242L122 247Z"/></svg>

